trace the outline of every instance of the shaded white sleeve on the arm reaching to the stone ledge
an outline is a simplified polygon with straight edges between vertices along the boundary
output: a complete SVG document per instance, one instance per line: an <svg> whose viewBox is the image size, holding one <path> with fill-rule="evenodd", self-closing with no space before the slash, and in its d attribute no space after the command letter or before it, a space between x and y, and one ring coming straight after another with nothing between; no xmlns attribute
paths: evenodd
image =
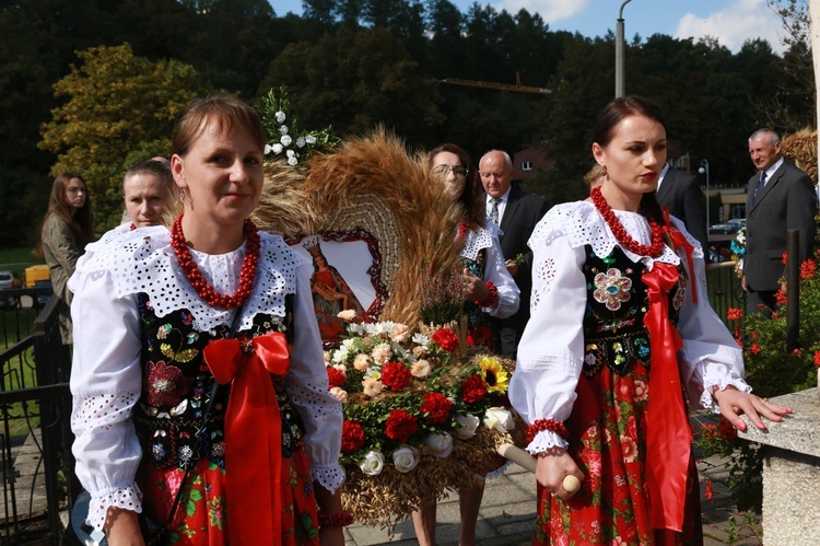
<svg viewBox="0 0 820 546"><path fill-rule="evenodd" d="M686 232L682 224L678 225ZM681 262L688 268L688 262ZM678 332L683 339L684 368L681 376L693 406L717 411L719 408L712 397L714 387L724 390L734 385L738 391L747 393L751 392L751 387L743 381L740 347L708 303L706 267L702 255L695 255L693 265L694 271L689 271L690 287L678 321ZM694 301L694 294L698 302Z"/></svg>

